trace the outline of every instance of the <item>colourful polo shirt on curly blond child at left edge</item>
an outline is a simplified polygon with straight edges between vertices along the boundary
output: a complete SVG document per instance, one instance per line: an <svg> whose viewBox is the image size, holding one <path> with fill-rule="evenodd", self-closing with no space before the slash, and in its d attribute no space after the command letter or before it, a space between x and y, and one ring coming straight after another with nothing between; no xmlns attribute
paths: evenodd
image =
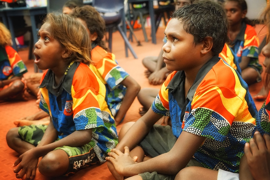
<svg viewBox="0 0 270 180"><path fill-rule="evenodd" d="M27 72L22 58L11 46L0 46L0 80L11 79Z"/></svg>

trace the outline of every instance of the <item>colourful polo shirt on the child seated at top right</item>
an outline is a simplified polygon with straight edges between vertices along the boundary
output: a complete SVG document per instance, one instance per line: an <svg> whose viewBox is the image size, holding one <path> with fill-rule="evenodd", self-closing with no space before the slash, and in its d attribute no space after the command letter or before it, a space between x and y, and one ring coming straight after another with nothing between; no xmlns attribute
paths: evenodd
<svg viewBox="0 0 270 180"><path fill-rule="evenodd" d="M246 23L242 23L239 34L236 39L229 44L234 55L235 61L241 63L242 56L250 57L249 67L255 68L262 73L262 65L258 59L259 39L255 29Z"/></svg>

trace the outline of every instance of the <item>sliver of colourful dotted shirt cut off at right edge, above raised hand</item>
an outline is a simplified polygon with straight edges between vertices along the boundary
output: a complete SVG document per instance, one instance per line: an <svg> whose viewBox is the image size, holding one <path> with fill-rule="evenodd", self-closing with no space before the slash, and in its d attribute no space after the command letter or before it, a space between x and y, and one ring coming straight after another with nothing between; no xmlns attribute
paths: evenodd
<svg viewBox="0 0 270 180"><path fill-rule="evenodd" d="M270 93L268 94L265 102L262 105L262 108L258 111L256 115L256 126L257 130L260 131L261 134L269 134L270 135Z"/></svg>

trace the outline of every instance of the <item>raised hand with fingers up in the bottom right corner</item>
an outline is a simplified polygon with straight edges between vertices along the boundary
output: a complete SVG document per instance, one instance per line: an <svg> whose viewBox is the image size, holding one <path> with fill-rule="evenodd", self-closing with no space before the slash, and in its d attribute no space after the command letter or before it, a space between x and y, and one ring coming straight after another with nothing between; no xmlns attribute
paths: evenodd
<svg viewBox="0 0 270 180"><path fill-rule="evenodd" d="M247 163L256 180L270 179L270 136L262 136L259 131L245 144Z"/></svg>

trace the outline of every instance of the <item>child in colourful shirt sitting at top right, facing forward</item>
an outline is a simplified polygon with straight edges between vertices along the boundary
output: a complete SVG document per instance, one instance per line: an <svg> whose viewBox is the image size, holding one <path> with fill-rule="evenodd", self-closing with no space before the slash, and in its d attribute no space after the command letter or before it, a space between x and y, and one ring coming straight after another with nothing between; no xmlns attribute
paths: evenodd
<svg viewBox="0 0 270 180"><path fill-rule="evenodd" d="M228 21L228 37L235 60L241 68L242 78L251 85L261 81L262 66L258 60L258 38L246 18L245 0L226 0L224 9Z"/></svg>

